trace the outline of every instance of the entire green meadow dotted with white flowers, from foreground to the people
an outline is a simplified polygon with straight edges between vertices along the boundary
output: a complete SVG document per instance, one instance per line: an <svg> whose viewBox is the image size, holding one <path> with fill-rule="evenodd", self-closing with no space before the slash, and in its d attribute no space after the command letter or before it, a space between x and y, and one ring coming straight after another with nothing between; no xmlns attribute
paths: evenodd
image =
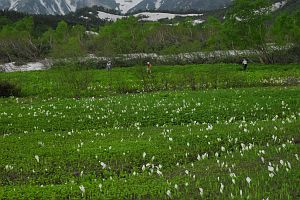
<svg viewBox="0 0 300 200"><path fill-rule="evenodd" d="M0 199L299 199L300 65L0 73Z"/></svg>

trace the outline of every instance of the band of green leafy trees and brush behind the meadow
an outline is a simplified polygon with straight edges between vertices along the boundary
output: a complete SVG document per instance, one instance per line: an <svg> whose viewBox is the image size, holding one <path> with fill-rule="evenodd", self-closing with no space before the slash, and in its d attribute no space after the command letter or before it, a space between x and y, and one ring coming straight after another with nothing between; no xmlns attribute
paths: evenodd
<svg viewBox="0 0 300 200"><path fill-rule="evenodd" d="M274 55L270 49L291 46L299 51L299 44L300 11L274 15L270 2L265 0L236 0L223 19L209 17L196 25L191 18L166 24L128 17L96 27L66 20L53 26L32 16L17 20L0 16L1 62L89 53L115 56L249 49L258 52L263 62L271 63Z"/></svg>

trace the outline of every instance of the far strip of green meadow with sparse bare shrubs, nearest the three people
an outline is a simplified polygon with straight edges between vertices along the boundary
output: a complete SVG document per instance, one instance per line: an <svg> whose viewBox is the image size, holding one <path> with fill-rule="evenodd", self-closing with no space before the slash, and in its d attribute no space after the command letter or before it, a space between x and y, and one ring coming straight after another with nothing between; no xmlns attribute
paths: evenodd
<svg viewBox="0 0 300 200"><path fill-rule="evenodd" d="M57 66L49 71L0 73L22 88L23 96L107 97L126 93L206 90L299 85L300 65L154 66L152 75L144 66L106 70L82 70L81 66Z"/></svg>

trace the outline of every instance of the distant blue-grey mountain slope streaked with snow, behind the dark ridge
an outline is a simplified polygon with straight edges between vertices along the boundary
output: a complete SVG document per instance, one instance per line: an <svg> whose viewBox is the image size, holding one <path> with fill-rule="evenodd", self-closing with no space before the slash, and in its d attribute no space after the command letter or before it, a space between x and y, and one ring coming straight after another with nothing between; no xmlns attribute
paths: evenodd
<svg viewBox="0 0 300 200"><path fill-rule="evenodd" d="M0 0L0 9L31 14L65 15L78 8L102 6L125 14L147 10L212 10L222 8L232 0Z"/></svg>

